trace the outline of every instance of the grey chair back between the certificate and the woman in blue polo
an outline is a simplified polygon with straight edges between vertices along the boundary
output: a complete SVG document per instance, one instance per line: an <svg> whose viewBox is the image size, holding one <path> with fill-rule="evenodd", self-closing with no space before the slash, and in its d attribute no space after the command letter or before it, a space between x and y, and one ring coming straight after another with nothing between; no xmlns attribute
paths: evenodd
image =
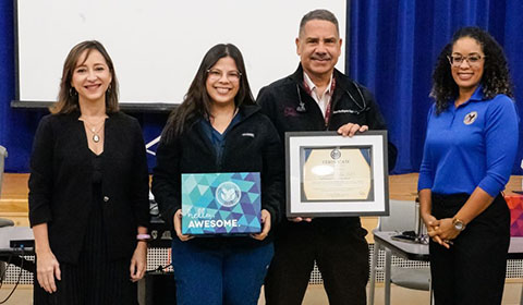
<svg viewBox="0 0 523 305"><path fill-rule="evenodd" d="M410 231L417 223L414 200L389 200L389 216L379 217L378 231Z"/></svg>

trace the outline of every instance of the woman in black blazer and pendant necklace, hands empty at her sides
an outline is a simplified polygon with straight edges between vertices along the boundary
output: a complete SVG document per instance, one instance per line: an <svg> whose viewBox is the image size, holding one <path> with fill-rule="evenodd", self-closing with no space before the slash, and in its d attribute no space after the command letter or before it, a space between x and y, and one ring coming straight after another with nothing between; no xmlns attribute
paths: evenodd
<svg viewBox="0 0 523 305"><path fill-rule="evenodd" d="M51 113L31 159L34 304L137 304L147 254L145 145L138 122L119 112L101 44L70 51Z"/></svg>

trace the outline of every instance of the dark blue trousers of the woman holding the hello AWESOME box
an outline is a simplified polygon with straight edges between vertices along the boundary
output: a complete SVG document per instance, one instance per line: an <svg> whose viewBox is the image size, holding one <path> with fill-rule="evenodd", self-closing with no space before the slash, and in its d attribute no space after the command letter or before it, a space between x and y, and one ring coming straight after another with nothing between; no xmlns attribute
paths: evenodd
<svg viewBox="0 0 523 305"><path fill-rule="evenodd" d="M208 249L172 241L178 305L256 305L272 243L258 247Z"/></svg>

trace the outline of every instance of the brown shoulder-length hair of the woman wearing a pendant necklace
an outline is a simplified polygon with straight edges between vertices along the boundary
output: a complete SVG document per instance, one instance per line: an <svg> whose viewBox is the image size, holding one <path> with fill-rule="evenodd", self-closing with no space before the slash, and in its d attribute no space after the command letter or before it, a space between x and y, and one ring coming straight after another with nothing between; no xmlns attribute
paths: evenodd
<svg viewBox="0 0 523 305"><path fill-rule="evenodd" d="M86 52L84 61L87 60L89 53L93 50L97 50L106 60L109 72L112 75L111 84L106 91L106 112L113 113L119 111L118 106L118 80L114 73L114 65L112 63L109 53L106 48L97 40L86 40L74 46L65 58L63 63L62 80L60 82L60 93L58 94L58 101L49 108L51 113L70 113L73 111L80 111L78 106L78 93L71 86L74 69L83 62L78 62L82 54Z"/></svg>

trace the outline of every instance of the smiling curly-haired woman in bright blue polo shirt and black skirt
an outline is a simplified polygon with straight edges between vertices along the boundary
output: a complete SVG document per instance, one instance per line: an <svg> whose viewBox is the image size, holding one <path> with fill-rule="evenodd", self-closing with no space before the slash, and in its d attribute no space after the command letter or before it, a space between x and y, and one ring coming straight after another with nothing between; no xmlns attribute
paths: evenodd
<svg viewBox="0 0 523 305"><path fill-rule="evenodd" d="M518 149L518 114L501 47L459 29L433 75L419 169L437 304L501 304L510 211L501 191Z"/></svg>

